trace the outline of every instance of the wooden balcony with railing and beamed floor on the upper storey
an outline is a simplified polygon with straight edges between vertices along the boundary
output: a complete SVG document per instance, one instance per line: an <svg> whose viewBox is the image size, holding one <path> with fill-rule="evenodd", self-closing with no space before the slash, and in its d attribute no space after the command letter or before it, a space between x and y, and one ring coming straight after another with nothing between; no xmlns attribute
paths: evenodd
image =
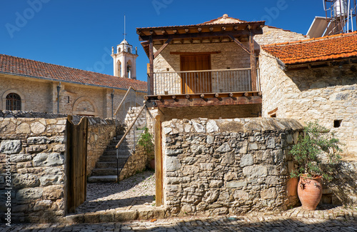
<svg viewBox="0 0 357 232"><path fill-rule="evenodd" d="M145 99L159 107L261 104L261 92L251 69L165 71L154 73L154 95Z"/></svg>

